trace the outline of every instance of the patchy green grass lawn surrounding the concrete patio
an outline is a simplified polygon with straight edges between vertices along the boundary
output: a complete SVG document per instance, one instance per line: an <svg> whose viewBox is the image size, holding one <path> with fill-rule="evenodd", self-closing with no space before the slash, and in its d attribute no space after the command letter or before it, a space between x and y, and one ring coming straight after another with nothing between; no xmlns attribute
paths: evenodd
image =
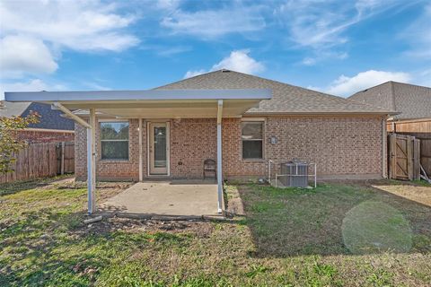
<svg viewBox="0 0 431 287"><path fill-rule="evenodd" d="M102 186L98 198L120 189ZM64 182L0 186L0 195L0 286L431 282L431 207L364 183L227 185L228 204L241 196L246 216L226 222L85 225L86 190Z"/></svg>

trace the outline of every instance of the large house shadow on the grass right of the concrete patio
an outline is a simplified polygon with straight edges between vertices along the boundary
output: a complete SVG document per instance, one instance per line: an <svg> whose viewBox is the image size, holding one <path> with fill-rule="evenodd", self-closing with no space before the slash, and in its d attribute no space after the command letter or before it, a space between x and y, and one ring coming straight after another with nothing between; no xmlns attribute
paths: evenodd
<svg viewBox="0 0 431 287"><path fill-rule="evenodd" d="M431 253L431 208L425 204L364 184L236 187L256 246L252 256Z"/></svg>

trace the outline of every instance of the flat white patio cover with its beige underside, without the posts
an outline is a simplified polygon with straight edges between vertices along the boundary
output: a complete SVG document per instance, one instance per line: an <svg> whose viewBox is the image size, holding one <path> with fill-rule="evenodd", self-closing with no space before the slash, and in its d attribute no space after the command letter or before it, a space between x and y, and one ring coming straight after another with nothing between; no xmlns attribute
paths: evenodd
<svg viewBox="0 0 431 287"><path fill-rule="evenodd" d="M223 100L223 117L241 117L270 98L266 89L5 92L8 101L57 102L66 109L97 109L113 117L153 118L217 117L218 100Z"/></svg>

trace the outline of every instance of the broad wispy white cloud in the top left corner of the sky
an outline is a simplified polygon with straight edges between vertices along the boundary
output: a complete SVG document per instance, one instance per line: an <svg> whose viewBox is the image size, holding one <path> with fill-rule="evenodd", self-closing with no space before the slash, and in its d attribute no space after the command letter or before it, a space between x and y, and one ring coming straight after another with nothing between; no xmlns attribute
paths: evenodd
<svg viewBox="0 0 431 287"><path fill-rule="evenodd" d="M25 34L76 50L119 51L138 39L123 32L135 17L101 1L7 1L0 4L2 31Z"/></svg>

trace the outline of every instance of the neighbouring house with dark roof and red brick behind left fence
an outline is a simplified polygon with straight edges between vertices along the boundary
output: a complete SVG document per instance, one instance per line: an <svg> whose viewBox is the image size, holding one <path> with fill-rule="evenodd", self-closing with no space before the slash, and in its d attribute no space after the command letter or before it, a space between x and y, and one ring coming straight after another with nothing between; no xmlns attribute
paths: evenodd
<svg viewBox="0 0 431 287"><path fill-rule="evenodd" d="M62 112L50 105L37 102L0 102L0 117L26 117L31 112L40 115L40 121L19 131L19 137L31 143L71 142L75 138L74 121L62 117Z"/></svg>

